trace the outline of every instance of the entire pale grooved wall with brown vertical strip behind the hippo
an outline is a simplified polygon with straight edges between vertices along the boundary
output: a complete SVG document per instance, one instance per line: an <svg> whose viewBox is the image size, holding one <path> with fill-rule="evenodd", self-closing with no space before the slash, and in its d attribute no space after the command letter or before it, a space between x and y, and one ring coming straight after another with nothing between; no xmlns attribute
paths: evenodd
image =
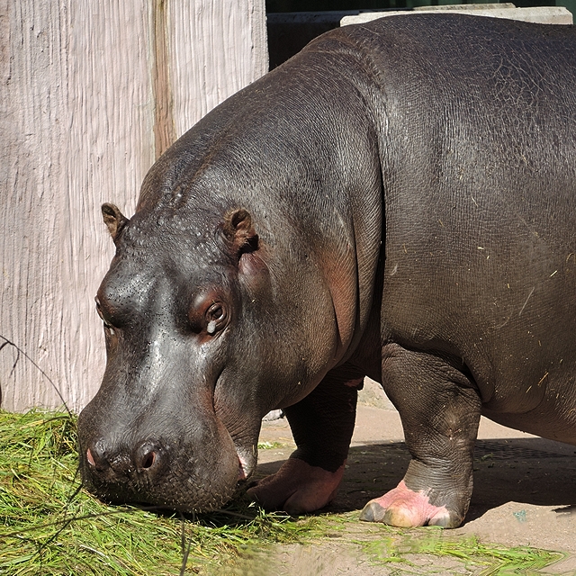
<svg viewBox="0 0 576 576"><path fill-rule="evenodd" d="M61 405L49 380L72 410L94 395L100 205L130 215L155 158L266 69L264 0L0 0L4 410Z"/></svg>

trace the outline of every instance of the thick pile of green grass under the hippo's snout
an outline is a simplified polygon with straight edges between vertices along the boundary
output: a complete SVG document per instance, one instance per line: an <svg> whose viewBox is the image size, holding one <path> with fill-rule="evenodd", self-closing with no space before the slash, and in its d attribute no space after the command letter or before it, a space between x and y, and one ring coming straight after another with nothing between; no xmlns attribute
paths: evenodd
<svg viewBox="0 0 576 576"><path fill-rule="evenodd" d="M192 574L254 543L317 534L246 502L198 518L109 507L80 490L76 419L0 412L0 574ZM184 561L184 557L187 558Z"/></svg>

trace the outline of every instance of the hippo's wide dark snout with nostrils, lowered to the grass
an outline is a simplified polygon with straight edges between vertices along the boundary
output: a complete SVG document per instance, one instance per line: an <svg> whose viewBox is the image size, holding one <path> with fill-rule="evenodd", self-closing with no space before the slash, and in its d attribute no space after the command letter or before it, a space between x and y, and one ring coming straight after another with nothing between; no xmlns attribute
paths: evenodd
<svg viewBox="0 0 576 576"><path fill-rule="evenodd" d="M256 458L241 457L215 417L188 428L171 419L159 429L134 418L104 423L109 413L94 403L78 421L82 480L101 500L207 512L230 500L252 471Z"/></svg>

